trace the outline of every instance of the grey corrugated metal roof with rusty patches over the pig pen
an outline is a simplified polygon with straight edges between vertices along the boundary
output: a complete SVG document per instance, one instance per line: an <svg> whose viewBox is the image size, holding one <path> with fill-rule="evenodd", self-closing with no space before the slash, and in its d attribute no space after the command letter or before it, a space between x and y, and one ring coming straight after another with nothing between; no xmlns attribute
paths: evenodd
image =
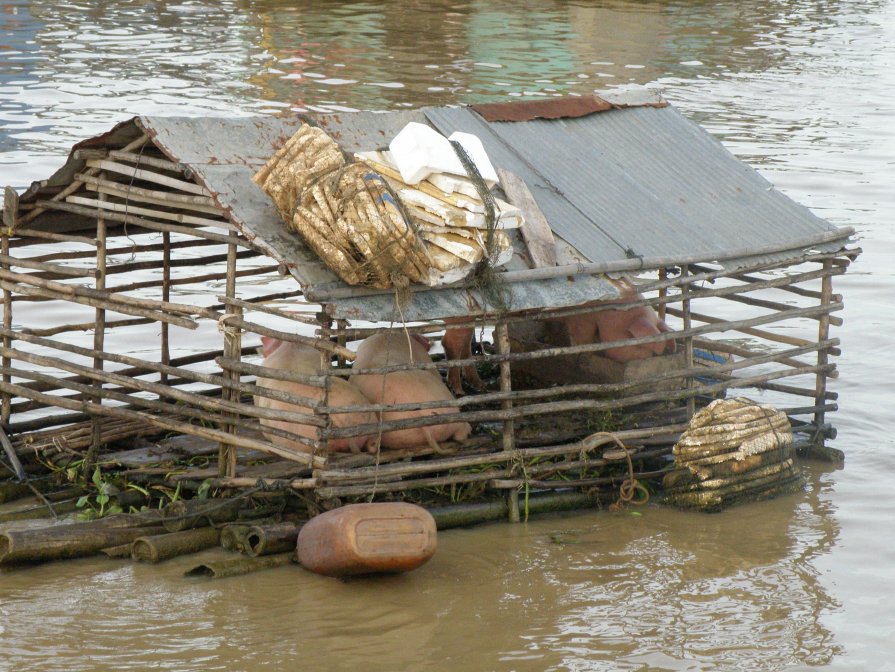
<svg viewBox="0 0 895 672"><path fill-rule="evenodd" d="M409 121L428 122L449 135L478 135L492 163L528 185L557 236L559 264L619 264L648 258L702 261L754 249L756 256L723 263L791 258L792 250L836 250L846 242L830 223L776 191L717 140L642 89L603 95L611 109L584 116L546 119L549 101L521 109L528 121L486 121L468 107L397 112L316 115L319 124L348 152L385 147ZM593 105L603 109L605 105ZM523 103L528 105L531 103ZM557 110L563 103L557 103ZM586 112L590 104L582 109ZM574 106L581 108L580 105ZM485 110L487 113L487 110ZM504 115L506 110L498 110ZM582 113L583 114L583 113ZM254 172L301 123L290 118L236 119L140 117L78 147L120 146L146 129L170 159L186 164L195 178L230 211L233 223L271 256L287 263L315 300L337 317L398 319L391 293L339 298L346 287L280 221L269 198L251 180ZM70 181L83 162L71 158L23 200L40 198L46 185ZM822 244L806 240L826 236ZM832 242L830 242L832 238ZM518 241L517 241L518 242ZM522 255L508 266L524 269ZM512 283L513 308L524 310L611 298L615 290L599 278L579 277ZM414 294L408 320L478 312L482 299L463 288Z"/></svg>

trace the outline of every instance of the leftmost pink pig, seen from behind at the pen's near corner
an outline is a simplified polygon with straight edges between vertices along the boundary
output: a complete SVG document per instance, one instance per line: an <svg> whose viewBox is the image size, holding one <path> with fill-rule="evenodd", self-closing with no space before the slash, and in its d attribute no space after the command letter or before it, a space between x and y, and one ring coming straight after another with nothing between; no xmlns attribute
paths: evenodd
<svg viewBox="0 0 895 672"><path fill-rule="evenodd" d="M316 375L320 371L320 353L314 348L298 343L284 343L276 338L261 337L261 354L264 356L264 366L280 371L289 371L291 373L302 373L306 375ZM333 378L329 390L330 406L360 406L369 405L370 400L356 387L348 381L341 378ZM280 392L288 392L299 397L309 399L322 399L323 390L319 387L311 385L302 385L285 380L275 380L273 378L258 378L257 385L259 387L267 387ZM295 413L312 414L314 411L299 404L290 404L285 401L271 399L270 397L255 396L255 405L259 408L270 408L281 411L293 411ZM317 427L313 425L305 425L299 422L291 422L285 420L267 420L261 419L262 427L274 427L282 429L298 436L308 439L317 438ZM354 425L365 425L376 422L376 416L370 412L352 412L352 413L334 413L332 415L332 424L334 427L351 427ZM263 431L263 430L262 430ZM311 449L298 441L291 441L280 436L265 434L271 443L275 443L284 448L300 452L311 452ZM351 437L348 439L330 439L326 444L327 449L332 451L352 451L366 449L370 452L376 450L376 437L372 434Z"/></svg>

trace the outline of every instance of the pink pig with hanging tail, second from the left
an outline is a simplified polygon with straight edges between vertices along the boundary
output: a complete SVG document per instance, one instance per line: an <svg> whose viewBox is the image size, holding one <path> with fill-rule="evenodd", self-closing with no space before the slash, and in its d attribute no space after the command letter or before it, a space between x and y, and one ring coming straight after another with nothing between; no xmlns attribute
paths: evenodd
<svg viewBox="0 0 895 672"><path fill-rule="evenodd" d="M429 341L419 335L402 333L376 334L365 339L357 349L356 369L376 369L398 364L431 362ZM432 369L394 371L388 374L357 374L349 379L371 401L382 404L409 404L426 401L449 401L454 398L441 376ZM429 415L455 413L451 407L417 411L386 411L383 421L402 420ZM383 433L383 448L437 448L442 441L462 441L472 431L468 422L450 422L400 429Z"/></svg>

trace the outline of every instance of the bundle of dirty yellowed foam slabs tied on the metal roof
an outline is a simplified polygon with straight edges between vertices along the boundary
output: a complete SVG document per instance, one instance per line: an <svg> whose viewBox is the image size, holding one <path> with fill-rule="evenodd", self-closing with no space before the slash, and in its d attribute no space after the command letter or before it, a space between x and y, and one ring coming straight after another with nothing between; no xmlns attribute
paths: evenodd
<svg viewBox="0 0 895 672"><path fill-rule="evenodd" d="M406 190L389 166L369 156L358 158L356 163L346 160L330 136L304 124L253 178L283 221L348 284L381 289L443 284L463 279L484 259L499 266L512 256L503 230L492 230L486 246L484 232L475 226L483 218L480 213L458 207L458 199L437 201L431 194ZM441 228L427 222L424 230L420 214L427 209L410 202L415 196L436 203L429 211L458 221L436 219ZM518 210L513 210L516 219L498 208L498 229L519 225Z"/></svg>

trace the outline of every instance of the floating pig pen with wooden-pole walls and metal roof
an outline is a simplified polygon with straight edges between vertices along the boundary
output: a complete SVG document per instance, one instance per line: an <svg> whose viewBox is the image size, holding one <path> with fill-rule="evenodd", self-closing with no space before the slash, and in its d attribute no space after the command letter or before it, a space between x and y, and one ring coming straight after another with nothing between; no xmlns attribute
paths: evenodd
<svg viewBox="0 0 895 672"><path fill-rule="evenodd" d="M494 193L525 214L521 229L507 230L512 258L492 278L500 301L471 281L350 285L253 182L306 122L353 155L382 149L411 121L477 136L500 170ZM275 485L310 510L406 500L518 519L520 502L581 507L631 475L661 475L694 413L739 396L784 413L800 454L836 454L825 445L837 408L830 327L843 306L833 279L859 253L848 247L853 231L787 198L650 93L309 117L140 116L75 145L24 194L7 188L3 214L2 439L6 460L26 471L85 460L185 490ZM620 277L637 292L621 293ZM550 328L642 306L671 331L572 345ZM473 328L481 347L454 360L436 347L432 361L373 371L472 365L484 390L441 402L447 413L392 420L382 413L394 406L328 402L333 381L357 373L360 340L437 341L445 320ZM261 337L313 347L319 372L263 366ZM627 363L603 356L657 343L674 351ZM321 394L310 403L261 389L259 378ZM274 410L253 396L307 408ZM358 410L375 422L334 421ZM260 431L289 418L313 436ZM473 431L374 454L325 448L449 421Z"/></svg>

